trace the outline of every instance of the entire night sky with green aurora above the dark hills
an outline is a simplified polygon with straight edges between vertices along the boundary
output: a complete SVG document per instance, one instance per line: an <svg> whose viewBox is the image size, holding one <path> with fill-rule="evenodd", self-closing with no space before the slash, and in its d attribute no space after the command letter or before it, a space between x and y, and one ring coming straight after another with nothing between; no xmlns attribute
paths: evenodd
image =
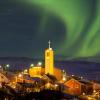
<svg viewBox="0 0 100 100"><path fill-rule="evenodd" d="M0 0L0 56L100 56L100 0Z"/></svg>

